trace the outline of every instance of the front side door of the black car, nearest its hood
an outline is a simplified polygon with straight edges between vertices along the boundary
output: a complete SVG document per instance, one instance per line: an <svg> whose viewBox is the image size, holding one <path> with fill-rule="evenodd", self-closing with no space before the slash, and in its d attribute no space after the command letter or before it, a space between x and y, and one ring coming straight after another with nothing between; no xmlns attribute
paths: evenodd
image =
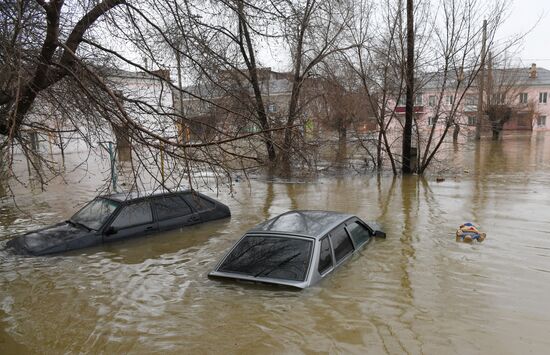
<svg viewBox="0 0 550 355"><path fill-rule="evenodd" d="M148 201L128 204L120 210L104 232L103 240L111 241L158 231Z"/></svg>

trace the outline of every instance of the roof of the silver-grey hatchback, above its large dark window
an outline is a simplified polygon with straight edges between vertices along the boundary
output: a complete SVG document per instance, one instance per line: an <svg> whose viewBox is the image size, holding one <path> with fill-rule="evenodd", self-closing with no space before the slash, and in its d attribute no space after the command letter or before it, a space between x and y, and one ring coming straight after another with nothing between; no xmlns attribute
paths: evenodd
<svg viewBox="0 0 550 355"><path fill-rule="evenodd" d="M354 215L334 211L289 211L253 227L247 233L269 232L319 239Z"/></svg>

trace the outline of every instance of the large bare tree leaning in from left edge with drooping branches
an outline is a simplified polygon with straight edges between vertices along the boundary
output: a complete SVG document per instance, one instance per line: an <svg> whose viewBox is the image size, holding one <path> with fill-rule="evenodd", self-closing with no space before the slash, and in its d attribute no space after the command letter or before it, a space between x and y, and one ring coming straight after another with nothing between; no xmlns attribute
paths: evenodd
<svg viewBox="0 0 550 355"><path fill-rule="evenodd" d="M33 136L29 138L25 133L31 129L46 133L74 132L92 150L101 150L99 142L113 140L114 135L123 133L134 158L130 166L134 183L150 176L156 185L166 186L168 180L179 185L182 181L178 176L185 174L188 184L192 185L191 175L205 169L229 177L233 169L260 164L255 152L236 144L254 137L264 137L268 155L273 158L273 149L269 149L269 146L273 148L271 131L266 125L259 132L235 133L220 129L216 122L195 121L173 110L171 100L165 103L159 99L171 97L175 92L175 96L194 97L218 112L245 116L241 111L220 105L211 95L186 91L181 80L175 85L166 70L173 67L174 54L177 54L183 59L178 61L178 69L185 65L186 70L195 75L192 79L219 72L215 51L219 47L216 48L215 43L210 47L197 45L199 41L208 42L196 30L192 8L197 4L151 0L137 6L122 0L92 0L81 6L69 6L62 1L39 1L38 5L12 1L3 6L3 13L10 15L2 16L4 23L0 27L2 46L6 48L6 52L2 52L6 55L1 62L0 95L0 135L5 161L11 161L14 152L22 149L27 156L41 160L56 173L55 164L33 149ZM231 10L239 14L238 6ZM243 44L241 49L251 51L247 53L253 56L253 49L244 40L246 18L234 18L238 19L236 27L241 30L237 41ZM109 35L105 36L106 33ZM210 50L199 52L204 48ZM238 52L231 53L232 49L222 55L234 57ZM126 70L129 73L139 71L148 80L155 81L160 90L157 98L120 90L124 84L111 80L125 72L120 68L130 69ZM254 68L251 64L248 73L255 73ZM217 80L210 78L211 82ZM221 89L226 93L231 91L227 87ZM263 104L257 107L263 109ZM44 114L45 110L61 114L62 120ZM63 127L55 122L63 122ZM209 133L200 142L178 141L175 127L182 123L187 127L202 127L197 131L215 134ZM63 142L61 144L63 147Z"/></svg>

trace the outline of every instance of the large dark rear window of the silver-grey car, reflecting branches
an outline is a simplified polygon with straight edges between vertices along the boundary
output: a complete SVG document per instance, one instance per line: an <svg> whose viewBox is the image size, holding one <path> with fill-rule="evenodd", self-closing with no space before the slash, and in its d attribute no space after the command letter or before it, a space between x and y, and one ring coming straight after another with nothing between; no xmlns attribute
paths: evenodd
<svg viewBox="0 0 550 355"><path fill-rule="evenodd" d="M313 242L307 239L246 236L218 268L253 277L304 281Z"/></svg>

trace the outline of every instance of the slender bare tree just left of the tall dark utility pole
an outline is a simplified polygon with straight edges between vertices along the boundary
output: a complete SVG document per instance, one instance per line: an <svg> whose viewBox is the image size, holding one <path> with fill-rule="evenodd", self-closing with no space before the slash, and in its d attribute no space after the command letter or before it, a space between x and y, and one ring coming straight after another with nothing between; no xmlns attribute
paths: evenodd
<svg viewBox="0 0 550 355"><path fill-rule="evenodd" d="M346 29L353 49L343 52L342 57L356 74L378 125L375 165L379 170L384 168L385 153L397 174L393 149L396 134L390 131L404 89L404 8L402 1L391 0L381 3L376 12L371 6L366 1L355 3L354 21Z"/></svg>

